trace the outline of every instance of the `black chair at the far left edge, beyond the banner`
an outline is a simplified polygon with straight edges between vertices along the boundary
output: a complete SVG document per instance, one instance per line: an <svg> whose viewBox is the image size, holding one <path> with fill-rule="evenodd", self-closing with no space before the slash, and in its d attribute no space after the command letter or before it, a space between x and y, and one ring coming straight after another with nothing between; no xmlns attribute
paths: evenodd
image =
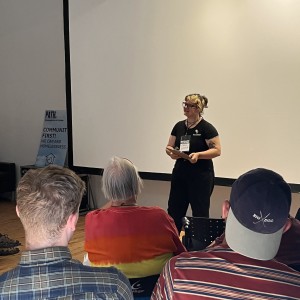
<svg viewBox="0 0 300 300"><path fill-rule="evenodd" d="M16 165L14 163L0 162L0 193L11 193L15 198Z"/></svg>

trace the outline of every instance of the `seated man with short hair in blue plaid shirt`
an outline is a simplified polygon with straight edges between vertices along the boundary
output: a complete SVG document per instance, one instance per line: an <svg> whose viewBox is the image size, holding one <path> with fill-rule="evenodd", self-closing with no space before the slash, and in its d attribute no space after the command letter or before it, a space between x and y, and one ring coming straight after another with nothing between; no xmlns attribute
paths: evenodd
<svg viewBox="0 0 300 300"><path fill-rule="evenodd" d="M25 230L20 264L0 276L5 299L133 299L128 279L116 268L92 268L73 260L84 182L56 166L29 170L17 188L16 211Z"/></svg>

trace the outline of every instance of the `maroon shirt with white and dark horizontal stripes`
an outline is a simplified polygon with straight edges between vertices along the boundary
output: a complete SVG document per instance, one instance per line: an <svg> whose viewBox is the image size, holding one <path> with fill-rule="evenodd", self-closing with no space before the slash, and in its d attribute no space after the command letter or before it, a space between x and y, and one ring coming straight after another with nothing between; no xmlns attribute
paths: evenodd
<svg viewBox="0 0 300 300"><path fill-rule="evenodd" d="M172 258L151 299L300 299L300 273L218 246Z"/></svg>

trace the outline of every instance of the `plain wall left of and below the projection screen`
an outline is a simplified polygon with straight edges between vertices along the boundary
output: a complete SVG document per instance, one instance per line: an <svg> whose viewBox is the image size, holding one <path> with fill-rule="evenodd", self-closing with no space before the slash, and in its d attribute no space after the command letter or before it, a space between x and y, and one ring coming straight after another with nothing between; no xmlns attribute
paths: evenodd
<svg viewBox="0 0 300 300"><path fill-rule="evenodd" d="M34 164L46 109L65 109L63 8L60 0L0 0L0 160ZM220 158L221 159L221 158ZM96 206L105 203L92 176ZM142 205L167 207L169 182L146 180ZM211 216L230 188L216 187ZM292 213L300 206L293 195Z"/></svg>

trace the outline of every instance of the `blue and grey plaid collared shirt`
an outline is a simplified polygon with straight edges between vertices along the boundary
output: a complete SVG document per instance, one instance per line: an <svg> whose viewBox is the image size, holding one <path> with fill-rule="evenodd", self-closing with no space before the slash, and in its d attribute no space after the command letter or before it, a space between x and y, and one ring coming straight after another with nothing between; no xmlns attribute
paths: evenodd
<svg viewBox="0 0 300 300"><path fill-rule="evenodd" d="M0 276L0 299L133 299L116 268L73 260L67 247L24 251L19 265Z"/></svg>

